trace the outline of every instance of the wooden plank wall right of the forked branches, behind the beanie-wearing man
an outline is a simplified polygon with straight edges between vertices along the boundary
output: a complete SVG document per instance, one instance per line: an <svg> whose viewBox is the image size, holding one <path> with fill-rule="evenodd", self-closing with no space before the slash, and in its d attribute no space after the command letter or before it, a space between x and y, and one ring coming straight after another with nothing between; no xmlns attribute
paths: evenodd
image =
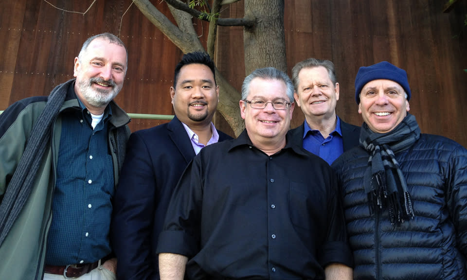
<svg viewBox="0 0 467 280"><path fill-rule="evenodd" d="M334 62L341 94L338 115L361 125L355 102L355 76L360 66L387 60L408 72L411 113L422 132L439 134L467 146L467 1L443 13L445 1L434 0L293 0L285 1L288 74L308 57ZM243 15L232 6L226 17ZM234 42L235 27L219 31L219 41ZM232 43L231 43L232 44ZM243 50L221 45L217 66L239 88ZM235 64L231 62L235 61ZM237 75L235 76L235 73ZM294 111L292 127L304 120Z"/></svg>

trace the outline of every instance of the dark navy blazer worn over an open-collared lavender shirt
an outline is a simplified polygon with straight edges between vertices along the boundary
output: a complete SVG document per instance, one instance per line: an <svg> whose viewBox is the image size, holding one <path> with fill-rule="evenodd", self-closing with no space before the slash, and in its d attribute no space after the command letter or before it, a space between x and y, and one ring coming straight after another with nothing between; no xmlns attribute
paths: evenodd
<svg viewBox="0 0 467 280"><path fill-rule="evenodd" d="M219 141L232 139L217 131ZM113 202L111 240L117 279L159 279L155 254L172 192L195 151L183 124L131 134Z"/></svg>

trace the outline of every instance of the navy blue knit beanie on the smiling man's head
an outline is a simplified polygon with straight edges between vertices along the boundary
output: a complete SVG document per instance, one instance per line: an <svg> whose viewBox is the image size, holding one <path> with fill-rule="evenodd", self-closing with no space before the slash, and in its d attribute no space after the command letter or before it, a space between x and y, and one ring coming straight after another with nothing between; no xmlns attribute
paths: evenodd
<svg viewBox="0 0 467 280"><path fill-rule="evenodd" d="M403 69L395 67L387 61L383 61L372 66L360 67L357 77L355 78L355 101L360 104L360 91L368 83L373 80L384 79L391 80L404 88L407 93L407 100L410 100L410 87L407 80L407 72Z"/></svg>

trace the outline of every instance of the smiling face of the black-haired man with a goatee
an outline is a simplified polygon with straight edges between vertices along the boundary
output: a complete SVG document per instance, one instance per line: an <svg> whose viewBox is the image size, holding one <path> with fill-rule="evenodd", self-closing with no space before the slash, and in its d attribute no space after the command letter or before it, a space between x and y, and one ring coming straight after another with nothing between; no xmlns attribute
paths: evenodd
<svg viewBox="0 0 467 280"><path fill-rule="evenodd" d="M180 69L177 85L170 88L175 115L189 127L210 124L216 112L219 87L204 64L192 63Z"/></svg>

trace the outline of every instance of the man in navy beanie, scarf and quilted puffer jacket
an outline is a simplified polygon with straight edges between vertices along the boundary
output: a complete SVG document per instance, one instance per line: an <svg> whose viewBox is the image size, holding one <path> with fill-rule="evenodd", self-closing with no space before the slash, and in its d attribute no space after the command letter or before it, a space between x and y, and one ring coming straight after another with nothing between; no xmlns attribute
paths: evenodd
<svg viewBox="0 0 467 280"><path fill-rule="evenodd" d="M360 145L332 167L341 187L354 279L467 279L467 150L421 134L407 73L360 67Z"/></svg>

